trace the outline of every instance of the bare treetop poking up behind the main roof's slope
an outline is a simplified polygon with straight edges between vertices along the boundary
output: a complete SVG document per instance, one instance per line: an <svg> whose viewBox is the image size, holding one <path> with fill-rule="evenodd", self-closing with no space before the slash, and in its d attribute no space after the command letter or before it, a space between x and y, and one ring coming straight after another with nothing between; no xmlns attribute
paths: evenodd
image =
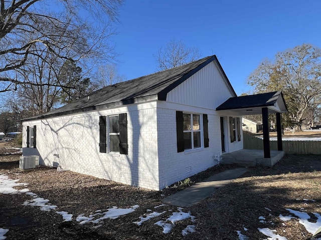
<svg viewBox="0 0 321 240"><path fill-rule="evenodd" d="M199 48L188 47L181 40L171 39L154 55L159 70L166 70L195 61L201 57Z"/></svg>

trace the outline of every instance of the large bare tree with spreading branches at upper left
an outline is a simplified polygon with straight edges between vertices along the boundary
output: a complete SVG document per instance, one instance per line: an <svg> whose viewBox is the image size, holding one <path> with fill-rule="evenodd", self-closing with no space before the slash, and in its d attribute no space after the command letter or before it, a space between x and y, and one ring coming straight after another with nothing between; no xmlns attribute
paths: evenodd
<svg viewBox="0 0 321 240"><path fill-rule="evenodd" d="M49 8L46 4L53 4L51 0L1 0L0 92L26 85L62 86L59 81L26 78L25 69L31 68L28 64L34 57L44 62L56 59L60 66L72 59L86 69L111 60L115 52L108 39L115 33L112 21L122 1L59 0L59 7ZM81 17L79 12L84 9L100 24Z"/></svg>

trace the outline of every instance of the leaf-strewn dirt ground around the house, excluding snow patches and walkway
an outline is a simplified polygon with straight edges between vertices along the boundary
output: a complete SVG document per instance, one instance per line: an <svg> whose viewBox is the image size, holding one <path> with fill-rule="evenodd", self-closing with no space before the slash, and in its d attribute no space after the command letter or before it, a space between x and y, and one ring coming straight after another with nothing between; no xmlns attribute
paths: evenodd
<svg viewBox="0 0 321 240"><path fill-rule="evenodd" d="M286 208L302 210L311 216L310 221L316 222L312 212L321 213L320 155L286 155L273 168L249 168L242 177L204 201L181 209L195 216L194 222L178 221L170 233L163 233L163 228L154 223L166 220L178 208L162 205L162 198L186 186L177 183L162 191L152 191L71 171L58 172L50 167L22 170L19 168L21 153L9 154L17 149L7 147L10 145L0 146L0 174L29 183L30 191L57 205L56 210L42 211L39 206L23 205L32 199L30 195L0 193L0 228L9 229L7 239L238 239L237 230L250 239L266 239L267 236L258 231L259 227L275 229L275 234L287 239L306 239L311 234L298 219L283 222L279 214L288 215ZM190 183L234 167L212 167L191 177ZM88 216L97 210L136 204L139 207L135 211L104 219L99 224L80 224L75 220L79 214ZM64 221L56 211L73 214L73 220ZM165 213L140 226L134 223L151 211ZM263 223L260 216L266 218ZM183 236L182 230L188 225L195 225L196 232Z"/></svg>

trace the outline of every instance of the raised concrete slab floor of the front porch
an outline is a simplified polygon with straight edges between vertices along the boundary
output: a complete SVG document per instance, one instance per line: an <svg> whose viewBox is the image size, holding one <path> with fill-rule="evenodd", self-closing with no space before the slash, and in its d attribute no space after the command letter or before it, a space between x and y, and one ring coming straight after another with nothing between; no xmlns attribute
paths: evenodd
<svg viewBox="0 0 321 240"><path fill-rule="evenodd" d="M271 157L264 158L263 150L241 149L221 155L221 163L238 164L240 166L272 167L284 156L284 151L271 150Z"/></svg>

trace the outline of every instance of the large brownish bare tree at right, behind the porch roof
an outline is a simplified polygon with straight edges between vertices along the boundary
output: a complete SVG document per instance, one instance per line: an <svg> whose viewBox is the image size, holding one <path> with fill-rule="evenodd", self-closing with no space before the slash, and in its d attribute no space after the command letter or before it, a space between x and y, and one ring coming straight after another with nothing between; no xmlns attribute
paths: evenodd
<svg viewBox="0 0 321 240"><path fill-rule="evenodd" d="M288 113L287 126L301 127L307 113L315 112L321 97L321 49L302 44L264 60L249 76L254 91L282 90ZM310 123L309 123L310 124Z"/></svg>

